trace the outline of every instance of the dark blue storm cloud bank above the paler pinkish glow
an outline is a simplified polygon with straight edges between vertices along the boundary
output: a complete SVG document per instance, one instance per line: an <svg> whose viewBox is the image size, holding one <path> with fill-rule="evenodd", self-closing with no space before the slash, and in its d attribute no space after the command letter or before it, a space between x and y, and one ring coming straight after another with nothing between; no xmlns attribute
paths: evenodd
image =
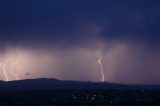
<svg viewBox="0 0 160 106"><path fill-rule="evenodd" d="M103 39L159 41L159 5L157 0L1 0L1 41L69 44L92 37L92 24Z"/></svg>

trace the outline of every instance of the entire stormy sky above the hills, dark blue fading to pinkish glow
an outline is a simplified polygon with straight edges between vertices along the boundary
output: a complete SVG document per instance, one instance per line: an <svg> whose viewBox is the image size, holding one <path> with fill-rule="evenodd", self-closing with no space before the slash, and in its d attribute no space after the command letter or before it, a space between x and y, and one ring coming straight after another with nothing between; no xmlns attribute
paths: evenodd
<svg viewBox="0 0 160 106"><path fill-rule="evenodd" d="M105 81L160 84L160 1L0 0L1 80L97 82L100 56Z"/></svg>

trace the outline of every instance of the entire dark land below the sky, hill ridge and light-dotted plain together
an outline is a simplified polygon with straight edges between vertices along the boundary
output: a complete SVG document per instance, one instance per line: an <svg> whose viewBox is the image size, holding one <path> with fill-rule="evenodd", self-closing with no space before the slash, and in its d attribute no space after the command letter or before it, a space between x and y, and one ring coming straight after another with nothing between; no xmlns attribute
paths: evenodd
<svg viewBox="0 0 160 106"><path fill-rule="evenodd" d="M0 106L160 106L160 85L45 78L0 81Z"/></svg>

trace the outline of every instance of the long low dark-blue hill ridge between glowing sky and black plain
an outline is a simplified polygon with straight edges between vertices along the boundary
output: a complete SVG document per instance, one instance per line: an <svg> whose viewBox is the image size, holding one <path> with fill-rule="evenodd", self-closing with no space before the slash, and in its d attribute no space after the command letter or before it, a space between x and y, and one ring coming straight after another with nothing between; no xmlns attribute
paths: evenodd
<svg viewBox="0 0 160 106"><path fill-rule="evenodd" d="M0 90L54 90L54 89L154 89L160 85L123 85L109 82L82 82L57 79L26 79L19 81L0 81Z"/></svg>

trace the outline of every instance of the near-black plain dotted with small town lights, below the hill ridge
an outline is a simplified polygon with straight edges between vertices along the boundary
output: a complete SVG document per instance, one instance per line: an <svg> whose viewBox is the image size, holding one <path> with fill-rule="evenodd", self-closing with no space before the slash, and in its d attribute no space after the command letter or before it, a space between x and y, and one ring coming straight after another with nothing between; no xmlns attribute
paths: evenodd
<svg viewBox="0 0 160 106"><path fill-rule="evenodd" d="M1 91L0 106L160 106L158 90Z"/></svg>

